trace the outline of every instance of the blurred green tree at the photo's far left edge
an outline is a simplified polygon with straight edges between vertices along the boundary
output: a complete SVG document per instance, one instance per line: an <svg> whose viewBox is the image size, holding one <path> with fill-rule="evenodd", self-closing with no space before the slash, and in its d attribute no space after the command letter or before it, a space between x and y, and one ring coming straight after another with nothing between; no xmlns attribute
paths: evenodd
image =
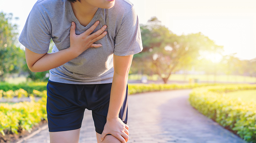
<svg viewBox="0 0 256 143"><path fill-rule="evenodd" d="M16 47L17 25L10 23L12 17L12 14L0 13L0 81L4 81L7 74L19 72L25 62L24 51Z"/></svg>

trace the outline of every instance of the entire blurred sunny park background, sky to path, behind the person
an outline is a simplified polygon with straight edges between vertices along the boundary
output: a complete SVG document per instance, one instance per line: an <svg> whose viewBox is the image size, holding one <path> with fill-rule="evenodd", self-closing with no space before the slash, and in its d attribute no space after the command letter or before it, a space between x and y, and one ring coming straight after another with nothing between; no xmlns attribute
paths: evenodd
<svg viewBox="0 0 256 143"><path fill-rule="evenodd" d="M37 127L47 128L49 71L31 72L18 42L36 1L0 0L0 143L21 143ZM135 135L130 141L141 142L144 128L160 142L256 142L256 1L130 1L139 17L143 51L133 57L128 94L150 92L129 96ZM241 138L232 134L231 140L224 128ZM34 140L49 142L44 133L44 139L36 135Z"/></svg>

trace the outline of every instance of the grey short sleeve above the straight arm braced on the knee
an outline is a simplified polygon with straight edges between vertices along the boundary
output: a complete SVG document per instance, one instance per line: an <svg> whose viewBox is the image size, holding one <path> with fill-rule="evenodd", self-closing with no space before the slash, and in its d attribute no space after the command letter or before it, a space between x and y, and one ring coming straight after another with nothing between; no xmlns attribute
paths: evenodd
<svg viewBox="0 0 256 143"><path fill-rule="evenodd" d="M132 7L122 20L122 24L115 37L114 54L127 56L142 51L141 33L138 16Z"/></svg>

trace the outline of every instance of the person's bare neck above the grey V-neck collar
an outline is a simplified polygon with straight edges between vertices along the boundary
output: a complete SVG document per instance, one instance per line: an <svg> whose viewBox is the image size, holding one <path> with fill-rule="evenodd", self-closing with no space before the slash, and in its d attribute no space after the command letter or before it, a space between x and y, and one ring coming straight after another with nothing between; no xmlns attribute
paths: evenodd
<svg viewBox="0 0 256 143"><path fill-rule="evenodd" d="M92 18L98 10L98 7L92 6L83 0L81 2L71 2L71 6L76 17Z"/></svg>

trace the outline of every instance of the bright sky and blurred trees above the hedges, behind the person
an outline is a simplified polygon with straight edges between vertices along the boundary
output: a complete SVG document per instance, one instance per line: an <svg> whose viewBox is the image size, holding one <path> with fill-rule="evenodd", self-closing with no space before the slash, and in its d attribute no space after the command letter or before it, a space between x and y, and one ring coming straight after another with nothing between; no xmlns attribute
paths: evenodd
<svg viewBox="0 0 256 143"><path fill-rule="evenodd" d="M130 83L256 82L256 2L253 0L130 0L143 51ZM0 0L0 81L47 81L31 72L18 43L36 0ZM50 45L49 52L51 52Z"/></svg>

